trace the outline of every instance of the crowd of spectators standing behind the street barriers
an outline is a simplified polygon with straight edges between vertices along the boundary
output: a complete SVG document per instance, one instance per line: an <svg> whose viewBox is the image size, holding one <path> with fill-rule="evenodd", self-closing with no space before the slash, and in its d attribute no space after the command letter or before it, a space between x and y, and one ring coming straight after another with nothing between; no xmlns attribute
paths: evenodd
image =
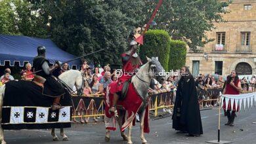
<svg viewBox="0 0 256 144"><path fill-rule="evenodd" d="M68 67L68 63L64 63L61 69L53 72L53 75L58 76L68 70L70 70ZM104 94L106 94L106 88L108 87L108 84L117 81L116 69L111 69L110 65L105 65L104 67L94 67L94 69L92 69L87 64L86 60L82 60L80 71L85 77L85 84L82 95L85 97L104 96ZM33 77L34 74L32 70L32 65L30 63L26 63L26 67L22 71L20 71L20 80L32 81ZM152 81L150 82L150 88L148 90L149 96L151 96L152 94L171 92L171 94L173 94L172 98L169 98L167 100L165 99L165 101L161 100L160 103L161 105L172 105L175 99L175 92L177 90L179 79L180 77L177 75L170 76L167 77L166 81L163 84L160 84L160 82L156 81L156 79L152 79ZM226 78L222 77L221 75L215 74L199 74L194 77L194 80L198 91L206 92L207 90L213 89L223 90ZM0 77L0 86L9 81L14 81L14 77L12 77L11 75L11 69L6 68L4 71L4 75ZM243 77L242 79L240 79L240 81L242 85L242 92L255 92L256 78L254 75L250 79L248 79L248 77ZM75 87L74 91L76 91ZM217 101L207 101L207 99L211 99L211 96L209 96L209 94L207 93L203 93L203 95L199 96L199 99L202 100L203 107L213 107L217 104ZM170 108L164 108L163 111L171 113ZM81 113L79 115L81 115ZM93 105L89 105L89 109L87 109L86 113L87 115L95 113L95 107ZM96 119L97 118L94 118L95 121L97 121ZM88 121L89 118L85 118L85 122ZM83 118L81 118L81 122L84 122Z"/></svg>

